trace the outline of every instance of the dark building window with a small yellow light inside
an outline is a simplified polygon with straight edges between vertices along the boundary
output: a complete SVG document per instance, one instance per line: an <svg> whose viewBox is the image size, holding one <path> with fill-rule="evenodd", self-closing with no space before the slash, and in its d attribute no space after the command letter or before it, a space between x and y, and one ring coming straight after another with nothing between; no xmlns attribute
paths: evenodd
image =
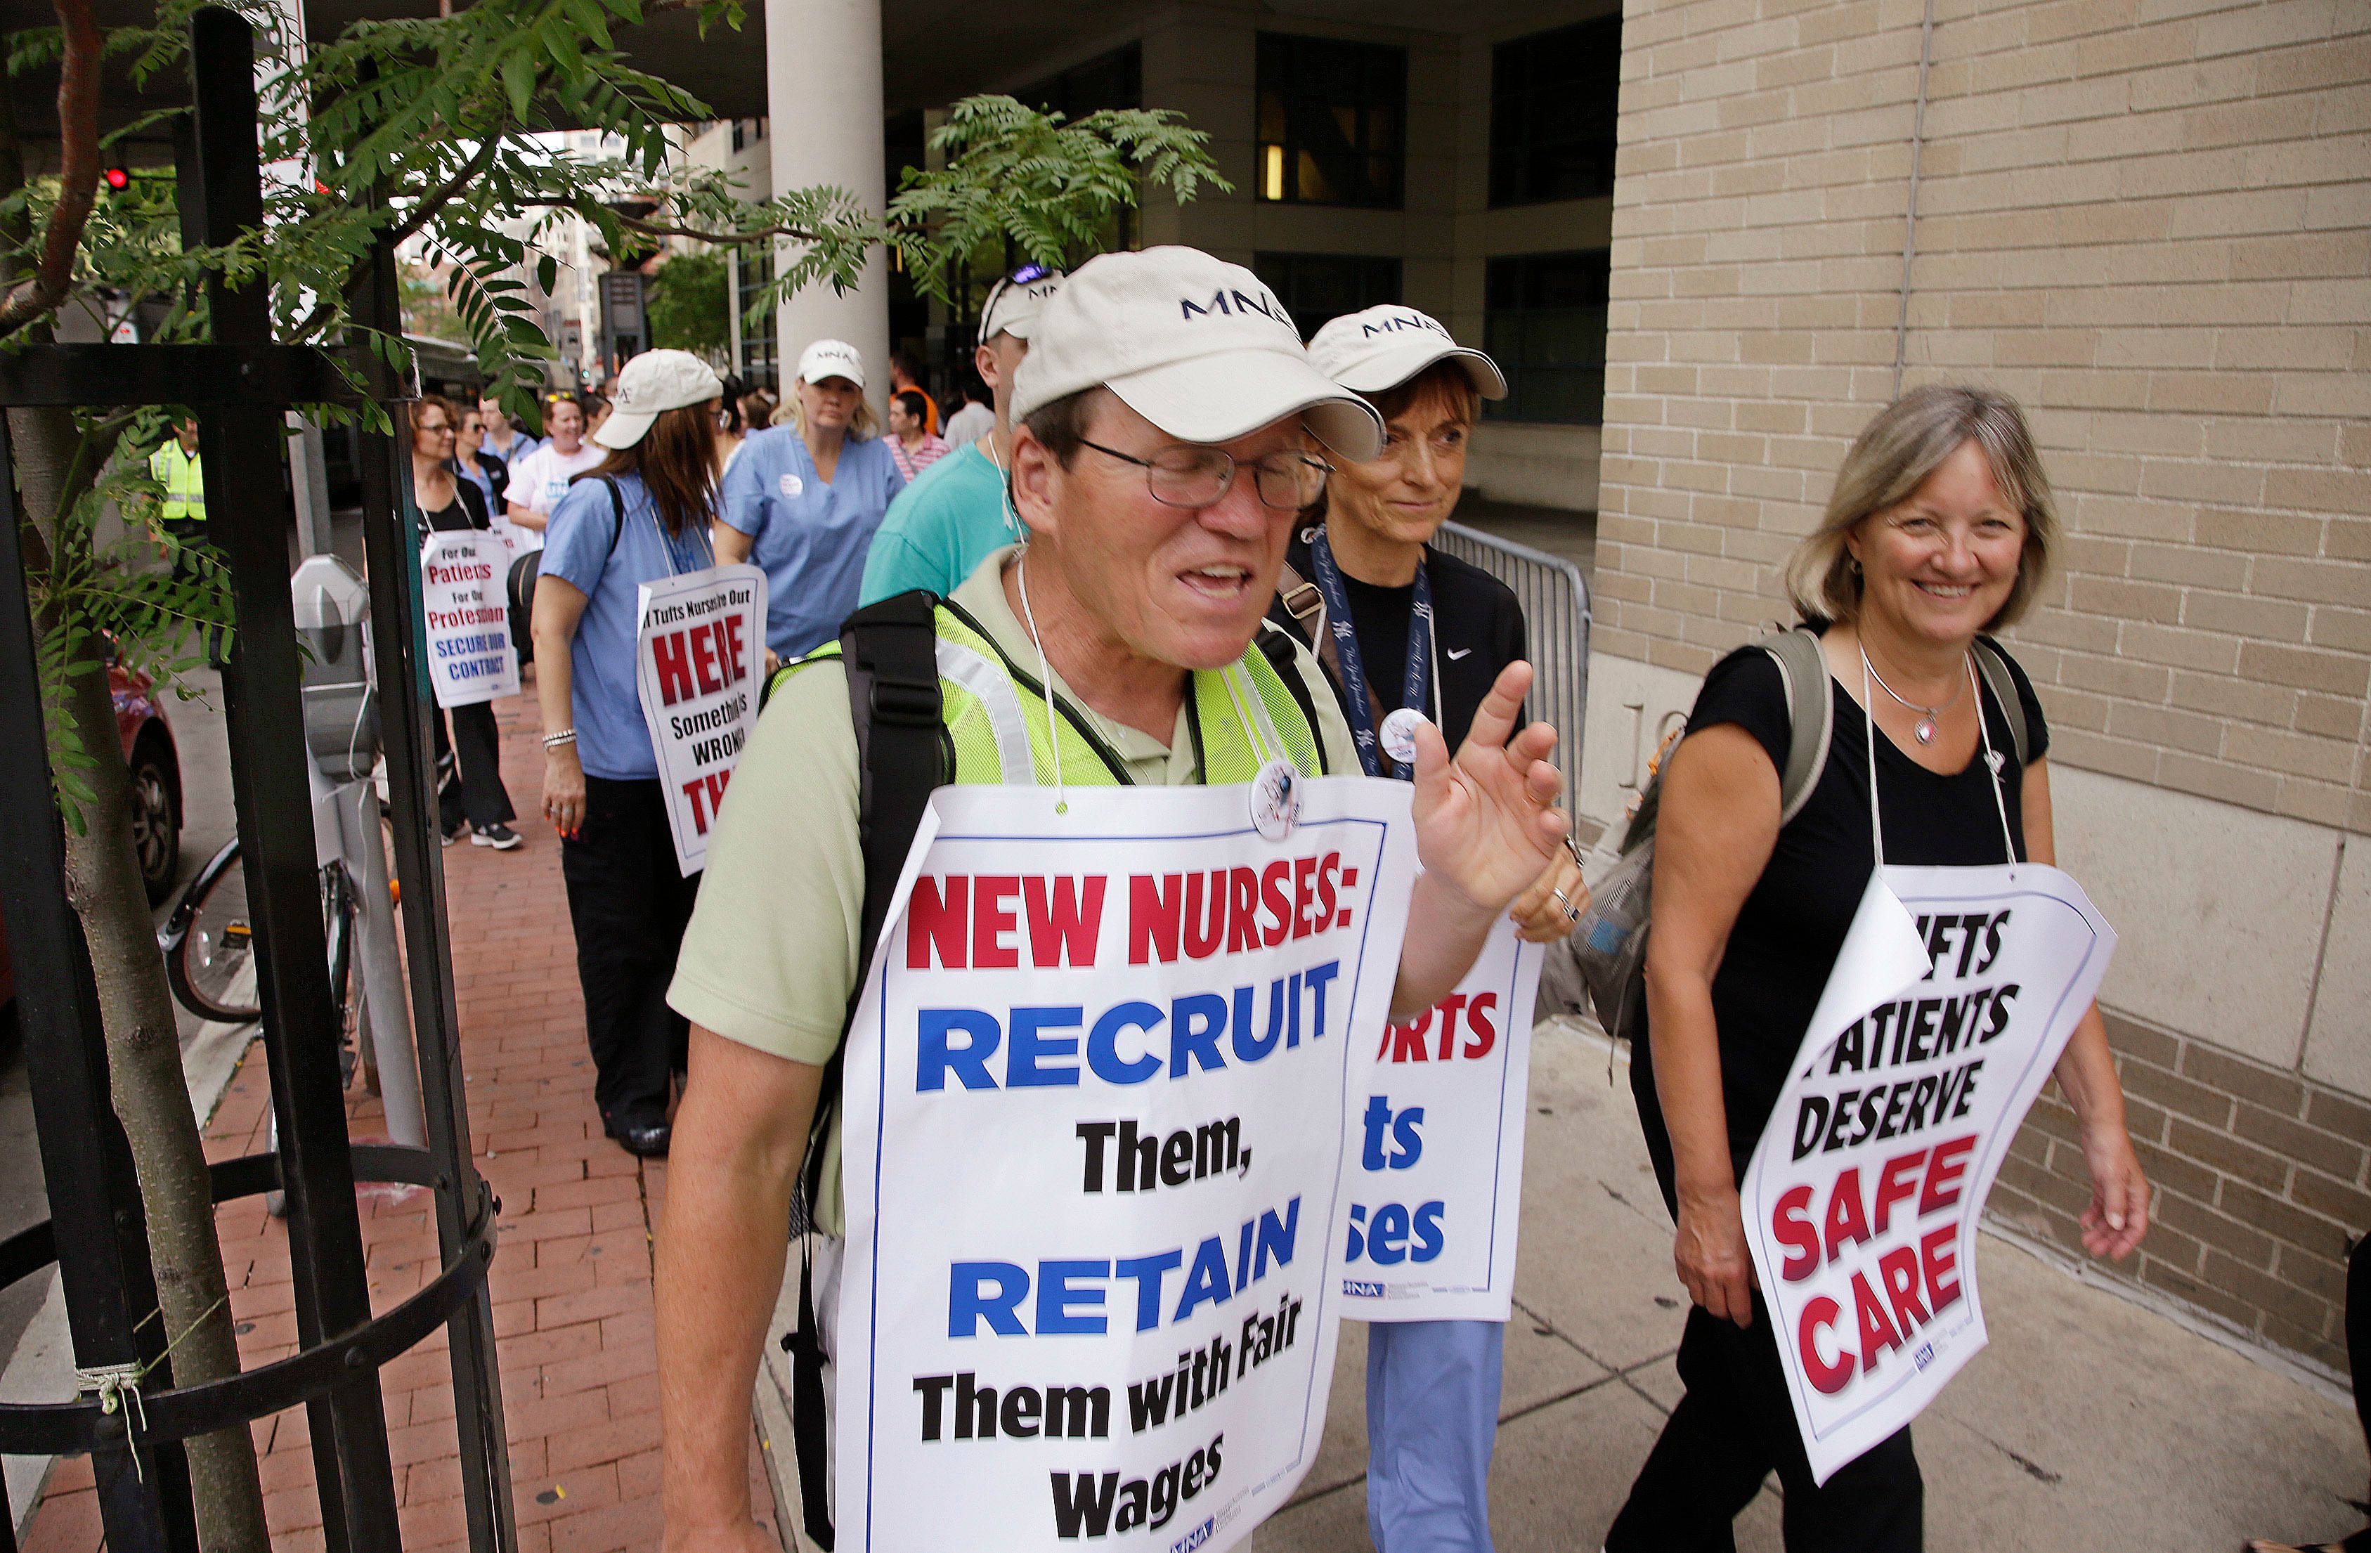
<svg viewBox="0 0 2371 1553"><path fill-rule="evenodd" d="M1259 33L1259 199L1399 209L1408 50Z"/></svg>

